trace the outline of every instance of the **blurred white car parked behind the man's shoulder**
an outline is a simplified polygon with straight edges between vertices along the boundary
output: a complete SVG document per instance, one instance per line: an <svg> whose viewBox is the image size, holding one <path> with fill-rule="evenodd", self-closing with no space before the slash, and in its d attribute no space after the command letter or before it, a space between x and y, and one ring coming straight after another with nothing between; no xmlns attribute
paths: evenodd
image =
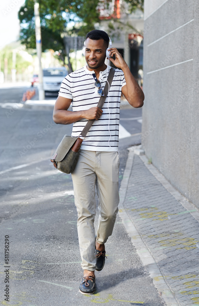
<svg viewBox="0 0 199 306"><path fill-rule="evenodd" d="M45 94L46 92L59 91L67 74L65 67L43 69L43 89Z"/></svg>

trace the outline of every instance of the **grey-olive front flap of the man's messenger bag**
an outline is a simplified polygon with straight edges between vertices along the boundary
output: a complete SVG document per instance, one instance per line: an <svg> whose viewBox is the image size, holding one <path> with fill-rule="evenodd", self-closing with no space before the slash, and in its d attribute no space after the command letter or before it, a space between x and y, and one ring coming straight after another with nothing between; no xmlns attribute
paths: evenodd
<svg viewBox="0 0 199 306"><path fill-rule="evenodd" d="M66 156L74 142L77 140L78 137L72 137L69 135L64 135L62 141L58 145L56 151L54 152L54 155L52 159L54 159L56 162L61 162L61 160Z"/></svg>

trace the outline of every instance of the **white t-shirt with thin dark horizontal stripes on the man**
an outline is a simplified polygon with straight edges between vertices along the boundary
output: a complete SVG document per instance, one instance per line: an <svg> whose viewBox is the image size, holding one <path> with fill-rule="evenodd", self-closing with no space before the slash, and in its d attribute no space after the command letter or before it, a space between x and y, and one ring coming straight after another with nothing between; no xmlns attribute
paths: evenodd
<svg viewBox="0 0 199 306"><path fill-rule="evenodd" d="M108 73L110 70L108 66ZM86 66L68 74L61 85L59 95L64 98L72 99L73 111L88 110L97 106L100 95L94 85L96 82L93 77L94 71L89 71ZM107 78L107 69L100 72L99 81L104 88ZM115 151L118 148L119 140L119 112L122 86L126 84L122 70L116 69L108 95L103 104L103 113L100 119L94 121L81 149L88 151ZM110 120L109 120L110 112ZM81 134L87 119L81 119L73 123L72 136L77 137ZM111 139L110 139L110 132ZM110 139L110 141L109 141Z"/></svg>

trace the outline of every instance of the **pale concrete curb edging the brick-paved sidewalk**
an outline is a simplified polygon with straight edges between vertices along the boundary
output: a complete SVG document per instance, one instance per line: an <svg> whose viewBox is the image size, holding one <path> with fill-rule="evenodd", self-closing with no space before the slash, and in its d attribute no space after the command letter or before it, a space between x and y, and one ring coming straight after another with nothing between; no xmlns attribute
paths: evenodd
<svg viewBox="0 0 199 306"><path fill-rule="evenodd" d="M141 259L142 264L145 266L146 270L148 271L150 277L153 280L153 284L158 289L164 302L166 303L167 306L179 306L177 300L175 299L175 297L171 292L171 289L165 282L165 278L160 272L160 269L157 266L155 259L153 258L152 254L150 253L144 241L142 240L140 233L138 232L137 228L134 226L133 221L129 217L124 207L126 191L129 183L130 174L133 168L134 154L135 153L133 150L129 151L123 179L119 189L120 202L118 205L119 209L118 213L120 218L122 219L122 222L125 226L128 235L131 238L131 242L133 243L133 245L137 250L137 253Z"/></svg>

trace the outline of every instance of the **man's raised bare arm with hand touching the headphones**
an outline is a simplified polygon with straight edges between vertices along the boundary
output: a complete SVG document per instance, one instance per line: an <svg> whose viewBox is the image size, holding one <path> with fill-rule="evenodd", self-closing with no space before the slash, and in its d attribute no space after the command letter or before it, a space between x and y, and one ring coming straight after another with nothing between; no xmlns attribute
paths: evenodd
<svg viewBox="0 0 199 306"><path fill-rule="evenodd" d="M116 48L109 48L110 58L109 60L119 69L122 69L124 77L126 80L126 85L122 87L122 94L125 96L126 100L133 107L142 107L144 104L145 95L141 90L139 84L133 77L132 73L122 55L118 52ZM112 56L115 54L115 60Z"/></svg>

